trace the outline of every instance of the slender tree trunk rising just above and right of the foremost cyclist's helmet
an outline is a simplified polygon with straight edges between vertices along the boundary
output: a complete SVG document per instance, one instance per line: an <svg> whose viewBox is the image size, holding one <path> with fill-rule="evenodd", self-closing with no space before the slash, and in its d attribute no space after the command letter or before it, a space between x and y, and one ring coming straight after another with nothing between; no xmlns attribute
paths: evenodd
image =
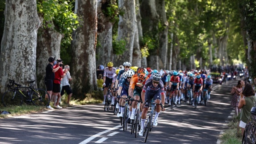
<svg viewBox="0 0 256 144"><path fill-rule="evenodd" d="M156 0L156 10L159 14L161 28L159 29L159 65L160 68L166 69L167 46L168 46L168 21L166 19L164 0Z"/></svg>

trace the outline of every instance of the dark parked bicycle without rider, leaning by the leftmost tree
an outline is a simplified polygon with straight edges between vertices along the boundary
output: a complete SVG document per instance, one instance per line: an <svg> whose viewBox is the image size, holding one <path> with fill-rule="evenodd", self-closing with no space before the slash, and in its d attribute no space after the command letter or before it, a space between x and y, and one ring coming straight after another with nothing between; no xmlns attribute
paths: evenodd
<svg viewBox="0 0 256 144"><path fill-rule="evenodd" d="M47 106L50 103L50 96L48 92L41 88L33 88L31 85L36 80L28 81L29 87L23 87L20 84L15 83L15 80L9 80L7 87L8 91L4 92L2 102L5 107L7 106L18 106L23 104L34 104L37 106ZM27 91L21 91L24 88Z"/></svg>

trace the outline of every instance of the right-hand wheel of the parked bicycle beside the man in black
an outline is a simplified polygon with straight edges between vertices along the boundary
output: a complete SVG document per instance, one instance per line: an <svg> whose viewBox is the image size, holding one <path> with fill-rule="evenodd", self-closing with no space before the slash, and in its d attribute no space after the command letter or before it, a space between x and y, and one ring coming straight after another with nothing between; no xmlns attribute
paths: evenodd
<svg viewBox="0 0 256 144"><path fill-rule="evenodd" d="M50 103L50 95L44 89L37 88L31 93L31 100L34 105L47 106Z"/></svg>

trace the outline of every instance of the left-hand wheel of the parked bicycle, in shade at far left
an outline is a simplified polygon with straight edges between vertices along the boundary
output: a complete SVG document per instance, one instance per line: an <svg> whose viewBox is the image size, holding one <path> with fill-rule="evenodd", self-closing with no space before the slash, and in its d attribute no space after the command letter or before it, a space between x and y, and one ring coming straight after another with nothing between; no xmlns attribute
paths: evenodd
<svg viewBox="0 0 256 144"><path fill-rule="evenodd" d="M20 96L14 90L10 89L4 92L4 95L2 97L2 102L5 107L19 106L22 104L22 96Z"/></svg>

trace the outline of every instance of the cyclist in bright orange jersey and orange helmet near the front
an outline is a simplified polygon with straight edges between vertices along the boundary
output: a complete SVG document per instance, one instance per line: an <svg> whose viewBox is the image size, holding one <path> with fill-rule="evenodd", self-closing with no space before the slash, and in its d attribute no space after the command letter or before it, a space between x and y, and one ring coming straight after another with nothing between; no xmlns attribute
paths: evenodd
<svg viewBox="0 0 256 144"><path fill-rule="evenodd" d="M133 78L132 81L130 82L130 87L131 87L130 95L132 98L134 97L134 100L142 100L141 92L142 92L142 88L143 88L146 80L148 80L148 77L146 76L146 74L144 72L141 72L139 74L139 76ZM138 102L136 102L136 101L132 102L131 120L134 120L137 103ZM142 112L142 104L140 105L140 112ZM140 113L140 115L141 115L141 113Z"/></svg>

